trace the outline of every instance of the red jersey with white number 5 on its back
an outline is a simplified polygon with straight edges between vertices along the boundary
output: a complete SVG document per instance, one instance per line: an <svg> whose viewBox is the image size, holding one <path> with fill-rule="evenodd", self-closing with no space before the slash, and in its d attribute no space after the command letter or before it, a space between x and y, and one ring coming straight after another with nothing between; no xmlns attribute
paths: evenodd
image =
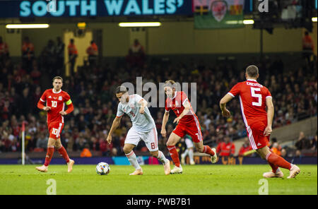
<svg viewBox="0 0 318 209"><path fill-rule="evenodd" d="M249 79L237 83L228 94L232 97L239 95L246 127L257 121L267 124L266 98L271 97L271 92L264 85L257 83L257 80Z"/></svg>

